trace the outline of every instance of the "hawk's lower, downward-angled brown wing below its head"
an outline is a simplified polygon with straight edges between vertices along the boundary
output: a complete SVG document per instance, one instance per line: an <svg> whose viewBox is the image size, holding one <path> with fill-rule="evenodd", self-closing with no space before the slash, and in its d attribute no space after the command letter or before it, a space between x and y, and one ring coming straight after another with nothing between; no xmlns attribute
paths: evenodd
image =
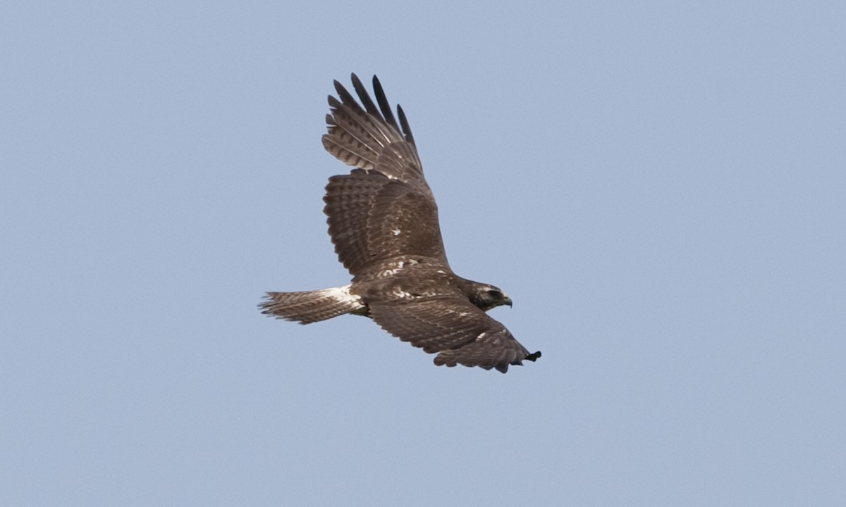
<svg viewBox="0 0 846 507"><path fill-rule="evenodd" d="M438 366L479 366L505 373L508 365L535 361L514 336L466 298L446 297L408 302L371 303L371 317L382 329L419 346Z"/></svg>

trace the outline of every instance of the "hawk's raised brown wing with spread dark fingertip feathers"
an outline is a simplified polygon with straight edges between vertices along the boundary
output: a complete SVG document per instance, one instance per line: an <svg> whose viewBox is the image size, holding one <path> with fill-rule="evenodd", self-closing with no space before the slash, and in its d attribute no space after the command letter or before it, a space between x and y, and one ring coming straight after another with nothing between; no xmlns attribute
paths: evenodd
<svg viewBox="0 0 846 507"><path fill-rule="evenodd" d="M323 136L329 153L356 167L330 178L323 199L338 259L353 275L399 255L447 264L437 204L402 108L397 106L397 122L375 76L378 106L355 74L352 79L361 104L335 81L340 100L329 96L332 113Z"/></svg>

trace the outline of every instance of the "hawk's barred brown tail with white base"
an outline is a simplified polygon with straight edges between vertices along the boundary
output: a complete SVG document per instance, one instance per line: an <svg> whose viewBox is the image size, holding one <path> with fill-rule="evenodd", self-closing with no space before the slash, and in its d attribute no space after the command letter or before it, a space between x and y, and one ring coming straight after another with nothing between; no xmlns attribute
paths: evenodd
<svg viewBox="0 0 846 507"><path fill-rule="evenodd" d="M349 292L349 285L306 292L267 292L259 304L261 313L277 319L311 324L344 313L366 314L361 298Z"/></svg>

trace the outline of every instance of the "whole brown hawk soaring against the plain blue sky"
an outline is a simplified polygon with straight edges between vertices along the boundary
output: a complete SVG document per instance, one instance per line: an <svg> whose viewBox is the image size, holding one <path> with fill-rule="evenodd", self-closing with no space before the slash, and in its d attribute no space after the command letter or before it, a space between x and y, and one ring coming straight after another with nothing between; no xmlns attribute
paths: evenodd
<svg viewBox="0 0 846 507"><path fill-rule="evenodd" d="M383 330L429 353L438 366L478 366L505 373L535 361L503 324L487 315L511 299L498 287L453 273L437 205L402 107L394 117L379 79L376 102L352 74L360 103L335 81L323 147L349 166L329 178L324 212L335 252L353 276L346 286L267 292L259 306L278 319L310 324L344 313L370 317Z"/></svg>

